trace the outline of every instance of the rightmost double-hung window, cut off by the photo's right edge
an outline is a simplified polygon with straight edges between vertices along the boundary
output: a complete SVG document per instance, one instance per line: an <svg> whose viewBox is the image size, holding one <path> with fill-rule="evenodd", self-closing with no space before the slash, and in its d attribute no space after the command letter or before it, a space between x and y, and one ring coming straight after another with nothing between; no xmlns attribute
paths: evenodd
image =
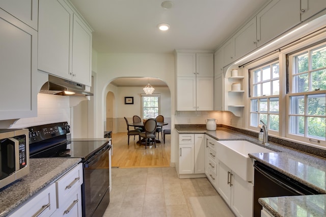
<svg viewBox="0 0 326 217"><path fill-rule="evenodd" d="M325 144L326 44L289 55L287 137Z"/></svg>

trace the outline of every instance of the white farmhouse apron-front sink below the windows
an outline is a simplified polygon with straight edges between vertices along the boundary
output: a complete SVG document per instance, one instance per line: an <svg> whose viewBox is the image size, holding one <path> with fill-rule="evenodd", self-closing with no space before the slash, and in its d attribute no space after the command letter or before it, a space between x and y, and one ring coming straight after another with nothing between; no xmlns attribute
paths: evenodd
<svg viewBox="0 0 326 217"><path fill-rule="evenodd" d="M253 160L248 153L274 152L254 143L244 140L217 141L219 161L228 166L238 176L246 181L253 181Z"/></svg>

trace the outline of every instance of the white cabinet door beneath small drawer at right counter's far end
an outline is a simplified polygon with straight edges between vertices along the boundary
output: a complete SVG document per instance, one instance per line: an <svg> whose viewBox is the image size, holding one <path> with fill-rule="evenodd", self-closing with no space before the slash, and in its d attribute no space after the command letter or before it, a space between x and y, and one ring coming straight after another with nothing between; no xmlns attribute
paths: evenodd
<svg viewBox="0 0 326 217"><path fill-rule="evenodd" d="M194 173L194 144L179 145L179 174Z"/></svg>

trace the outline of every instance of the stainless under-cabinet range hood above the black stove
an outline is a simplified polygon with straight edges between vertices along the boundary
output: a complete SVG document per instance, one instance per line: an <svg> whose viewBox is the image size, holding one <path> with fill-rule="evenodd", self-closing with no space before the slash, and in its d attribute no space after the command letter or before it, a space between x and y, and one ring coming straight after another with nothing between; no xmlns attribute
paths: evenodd
<svg viewBox="0 0 326 217"><path fill-rule="evenodd" d="M93 93L88 91L84 84L52 75L49 75L48 77L48 81L41 87L41 94L61 96L93 96Z"/></svg>

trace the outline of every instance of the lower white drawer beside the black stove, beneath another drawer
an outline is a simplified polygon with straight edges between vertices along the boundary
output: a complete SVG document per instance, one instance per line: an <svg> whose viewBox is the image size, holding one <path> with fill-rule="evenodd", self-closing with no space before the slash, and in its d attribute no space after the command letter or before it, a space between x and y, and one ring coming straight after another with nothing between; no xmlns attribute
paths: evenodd
<svg viewBox="0 0 326 217"><path fill-rule="evenodd" d="M82 217L82 193L79 188L64 198L64 204L57 210L56 216Z"/></svg>

